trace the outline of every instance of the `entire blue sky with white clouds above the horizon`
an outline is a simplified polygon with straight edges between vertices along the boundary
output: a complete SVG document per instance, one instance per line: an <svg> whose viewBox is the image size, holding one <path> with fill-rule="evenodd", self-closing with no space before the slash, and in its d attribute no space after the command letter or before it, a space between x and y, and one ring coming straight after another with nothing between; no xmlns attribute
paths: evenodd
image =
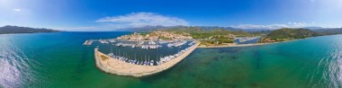
<svg viewBox="0 0 342 88"><path fill-rule="evenodd" d="M0 26L112 31L147 25L342 27L342 0L0 0Z"/></svg>

